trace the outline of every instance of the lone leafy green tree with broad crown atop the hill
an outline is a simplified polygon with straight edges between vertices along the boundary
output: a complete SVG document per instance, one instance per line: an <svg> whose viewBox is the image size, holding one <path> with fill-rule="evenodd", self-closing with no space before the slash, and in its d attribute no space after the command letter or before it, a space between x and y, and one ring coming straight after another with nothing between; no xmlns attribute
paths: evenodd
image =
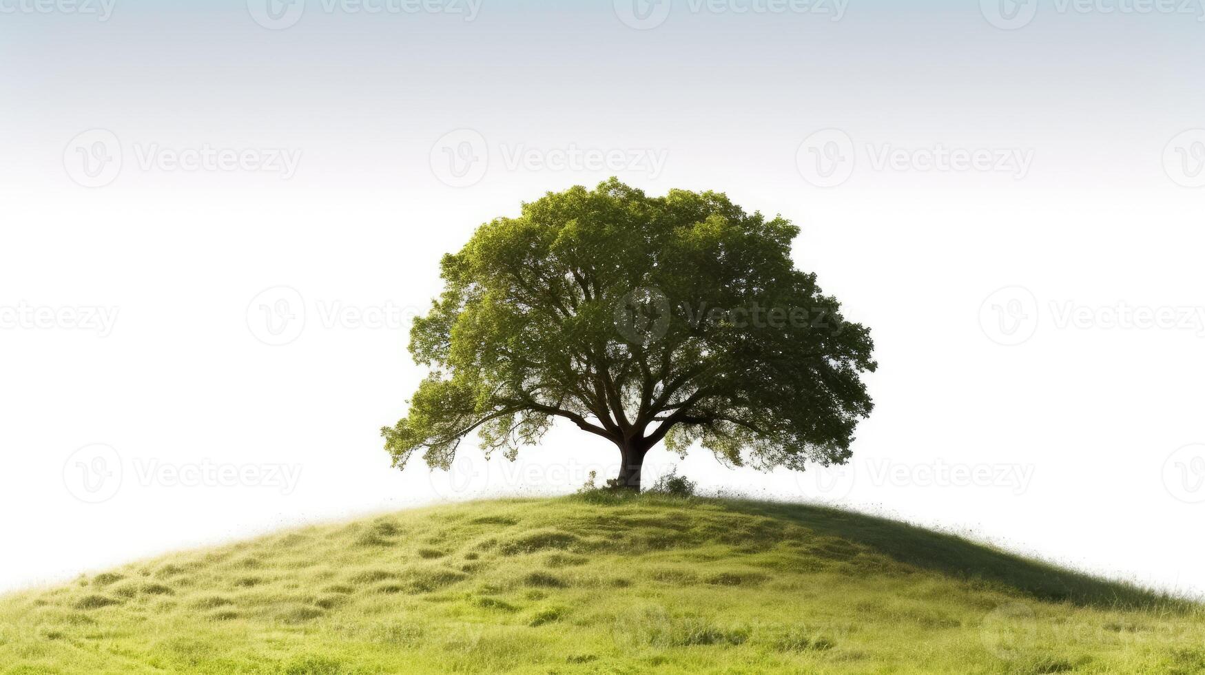
<svg viewBox="0 0 1205 675"><path fill-rule="evenodd" d="M844 464L872 407L872 342L795 269L798 234L721 193L616 178L481 225L411 330L431 370L382 429L394 466L423 448L447 469L474 430L513 460L558 418L615 444L615 485L637 491L662 440L731 465Z"/></svg>

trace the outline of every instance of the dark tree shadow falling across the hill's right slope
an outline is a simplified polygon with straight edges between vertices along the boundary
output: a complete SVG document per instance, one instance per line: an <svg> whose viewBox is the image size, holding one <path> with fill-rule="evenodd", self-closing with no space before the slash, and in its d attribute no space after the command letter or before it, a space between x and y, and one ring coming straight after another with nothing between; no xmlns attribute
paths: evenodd
<svg viewBox="0 0 1205 675"><path fill-rule="evenodd" d="M689 501L643 494L639 498L602 498L600 501L618 505L630 499L665 505L677 501L682 506L689 507ZM1044 560L1025 558L969 541L953 534L856 511L810 504L743 499L692 498L692 501L722 505L731 512L793 522L818 535L836 536L860 544L906 565L939 571L964 581L983 581L1001 587L1001 589L1013 589L1041 601L1071 603L1095 609L1136 609L1174 614L1195 614L1205 609L1195 600L1123 581L1112 581L1068 570ZM772 536L772 533L766 532L763 535Z"/></svg>

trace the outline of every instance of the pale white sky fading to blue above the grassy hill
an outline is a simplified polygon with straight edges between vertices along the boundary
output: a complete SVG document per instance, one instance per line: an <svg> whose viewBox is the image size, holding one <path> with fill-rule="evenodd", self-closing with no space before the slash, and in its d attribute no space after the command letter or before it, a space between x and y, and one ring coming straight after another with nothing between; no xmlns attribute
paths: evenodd
<svg viewBox="0 0 1205 675"><path fill-rule="evenodd" d="M622 2L474 20L311 2L281 29L242 2L0 16L0 588L615 471L574 429L515 465L466 446L451 476L390 469L378 434L423 375L408 317L440 256L521 201L617 175L800 224L798 264L871 327L881 364L844 471L658 450L649 480L676 465L707 491L1205 591L1198 18L671 8L645 29ZM286 177L163 154L206 147L300 160ZM665 164L562 166L574 148ZM877 165L900 148L1031 164ZM817 187L813 149L844 158L839 184ZM117 312L107 334L63 313L95 307Z"/></svg>

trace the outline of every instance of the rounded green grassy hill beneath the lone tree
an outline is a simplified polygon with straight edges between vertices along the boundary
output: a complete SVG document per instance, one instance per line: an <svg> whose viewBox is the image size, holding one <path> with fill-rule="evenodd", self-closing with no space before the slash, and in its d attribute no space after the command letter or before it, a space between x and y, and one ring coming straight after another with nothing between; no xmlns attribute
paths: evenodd
<svg viewBox="0 0 1205 675"><path fill-rule="evenodd" d="M0 598L0 673L1205 673L1199 605L815 506L437 506Z"/></svg>

